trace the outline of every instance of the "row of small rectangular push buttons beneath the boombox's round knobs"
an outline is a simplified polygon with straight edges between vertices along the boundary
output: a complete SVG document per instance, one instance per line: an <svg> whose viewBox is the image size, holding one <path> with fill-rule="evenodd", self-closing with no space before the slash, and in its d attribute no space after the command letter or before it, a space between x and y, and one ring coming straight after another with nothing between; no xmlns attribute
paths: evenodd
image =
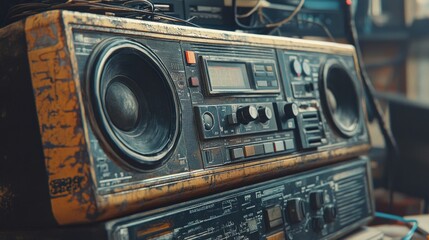
<svg viewBox="0 0 429 240"><path fill-rule="evenodd" d="M262 154L270 154L274 152L283 152L295 148L293 139L284 141L266 142L262 144L252 144L239 148L232 148L229 150L232 159L239 159L243 157L253 157Z"/></svg>

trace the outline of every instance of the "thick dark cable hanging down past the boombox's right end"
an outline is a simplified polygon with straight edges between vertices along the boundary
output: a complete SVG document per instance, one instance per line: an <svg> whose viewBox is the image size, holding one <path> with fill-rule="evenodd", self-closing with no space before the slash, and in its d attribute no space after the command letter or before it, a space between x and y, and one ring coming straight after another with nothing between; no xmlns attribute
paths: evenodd
<svg viewBox="0 0 429 240"><path fill-rule="evenodd" d="M387 178L387 187L389 190L389 207L392 210L393 201L394 201L393 187L394 187L394 176L395 176L395 169L396 169L395 165L399 158L399 150L392 132L387 128L387 125L384 121L384 118L382 116L382 110L380 106L377 104L377 102L375 101L375 98L374 98L375 89L365 70L365 65L363 63L362 52L358 41L358 34L356 30L352 9L347 4L344 4L344 6L345 6L344 12L346 15L346 27L345 27L346 38L356 48L357 61L359 64L360 74L363 80L362 82L364 86L364 91L367 95L368 106L371 108L374 114L374 117L377 120L377 123L380 127L381 133L383 135L383 138L386 144L386 150L387 150L386 163L389 163L389 164L386 164L387 165L386 178Z"/></svg>

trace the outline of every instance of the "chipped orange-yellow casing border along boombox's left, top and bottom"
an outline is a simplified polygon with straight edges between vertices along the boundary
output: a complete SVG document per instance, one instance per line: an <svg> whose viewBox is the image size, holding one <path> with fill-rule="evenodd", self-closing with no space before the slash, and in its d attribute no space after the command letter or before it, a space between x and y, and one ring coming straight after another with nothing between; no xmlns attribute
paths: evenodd
<svg viewBox="0 0 429 240"><path fill-rule="evenodd" d="M100 194L100 189L94 182L94 146L91 145L91 129L86 122L87 113L83 107L82 79L78 74L78 63L72 46L72 29L77 25L81 29L92 31L113 32L116 29L116 33L139 34L151 38L277 46L294 50L313 49L355 57L352 47L339 44L220 34L216 31L91 14L54 11L28 18L28 58L49 177L52 212L59 224L85 223L122 216L348 159L369 150L368 142L363 142L348 148L273 157L171 176L165 168L150 174L128 170L130 175L137 176L138 181L114 187L109 194ZM200 153L191 152L188 155L196 156ZM117 164L116 161L112 162Z"/></svg>

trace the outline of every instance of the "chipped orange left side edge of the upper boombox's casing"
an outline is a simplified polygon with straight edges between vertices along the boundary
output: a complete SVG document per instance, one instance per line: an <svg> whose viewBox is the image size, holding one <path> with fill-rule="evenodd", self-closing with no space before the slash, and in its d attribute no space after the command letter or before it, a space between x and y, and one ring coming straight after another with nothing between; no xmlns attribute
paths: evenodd
<svg viewBox="0 0 429 240"><path fill-rule="evenodd" d="M94 220L99 212L61 12L29 17L25 25L52 212L59 224Z"/></svg>

